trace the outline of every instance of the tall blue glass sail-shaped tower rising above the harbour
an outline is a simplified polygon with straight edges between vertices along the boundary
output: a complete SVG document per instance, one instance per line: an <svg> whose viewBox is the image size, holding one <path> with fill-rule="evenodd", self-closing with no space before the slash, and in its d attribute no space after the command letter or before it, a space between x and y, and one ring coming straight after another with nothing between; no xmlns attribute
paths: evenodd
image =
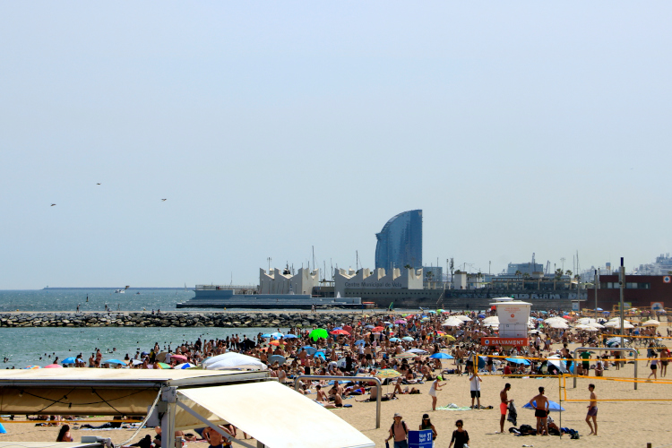
<svg viewBox="0 0 672 448"><path fill-rule="evenodd" d="M422 211L404 211L387 221L375 234L375 267L389 271L407 264L422 268Z"/></svg>

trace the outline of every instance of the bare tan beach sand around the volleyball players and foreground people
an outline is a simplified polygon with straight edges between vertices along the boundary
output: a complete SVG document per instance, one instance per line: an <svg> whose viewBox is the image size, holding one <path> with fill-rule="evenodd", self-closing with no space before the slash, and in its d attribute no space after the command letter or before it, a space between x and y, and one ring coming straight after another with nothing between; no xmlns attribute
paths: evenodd
<svg viewBox="0 0 672 448"><path fill-rule="evenodd" d="M558 346L559 347L559 346ZM572 348L575 348L574 345ZM556 347L554 346L554 349ZM643 358L645 350L640 350ZM639 376L646 378L650 374L650 368L645 366L646 361L639 361ZM444 366L452 366L452 360L444 361ZM592 374L592 372L591 372ZM592 374L594 375L594 374ZM352 408L332 410L340 418L343 418L352 426L357 427L362 433L375 442L376 447L384 447L384 439L388 429L392 425L392 415L400 412L410 429L417 429L423 413L428 413L438 432L436 446L448 446L455 420L464 420L464 427L470 434L470 447L520 447L523 444L535 447L571 445L591 446L602 448L607 446L645 447L650 442L653 447L672 443L672 430L669 428L670 401L672 401L672 374L668 375L670 383L639 383L638 390L633 390L632 382L615 382L600 380L591 375L590 379L579 378L576 389L573 389L573 379L566 381L567 398L570 400L587 400L589 383L596 384L595 392L599 398L599 435L588 436L589 427L585 423L586 401L563 402L566 409L562 412L562 426L576 429L581 435L580 440L571 440L564 435L558 436L515 436L513 434L495 434L499 430L499 392L504 388L504 383L511 383L512 389L509 398L513 398L518 408L518 425L528 424L535 426L533 411L521 409L522 405L538 393L538 387L544 386L547 397L552 401L559 401L558 380L556 377L546 378L503 378L500 375L483 375L481 384L481 405L493 406L493 409L480 410L431 410L431 398L427 395L430 383L419 385L422 392L419 395L401 395L399 400L384 401L382 403L381 427L375 429L375 403L357 402L355 399L347 399L346 404ZM611 366L604 378L625 378L633 376L633 365L628 364L621 370L616 371ZM438 392L438 406L446 406L455 403L460 407L471 404L470 384L467 375L448 375L448 382L443 390ZM383 386L383 392L391 386ZM563 400L564 400L564 392ZM638 401L612 401L612 400L638 400ZM652 401L668 399L670 401ZM263 409L260 409L262 418ZM552 417L559 425L560 414L553 412ZM73 426L71 424L71 426ZM512 425L506 422L504 430ZM560 426L560 425L559 425ZM0 441L54 441L58 433L58 427L34 426L31 424L4 423L7 434L0 435ZM73 438L79 441L82 435L100 435L110 437L115 444L125 441L133 430L78 430L73 429ZM153 435L153 429L143 429L134 442L142 435ZM315 435L319 437L319 435ZM188 445L207 448L204 442L190 442ZM234 444L234 446L241 446Z"/></svg>

